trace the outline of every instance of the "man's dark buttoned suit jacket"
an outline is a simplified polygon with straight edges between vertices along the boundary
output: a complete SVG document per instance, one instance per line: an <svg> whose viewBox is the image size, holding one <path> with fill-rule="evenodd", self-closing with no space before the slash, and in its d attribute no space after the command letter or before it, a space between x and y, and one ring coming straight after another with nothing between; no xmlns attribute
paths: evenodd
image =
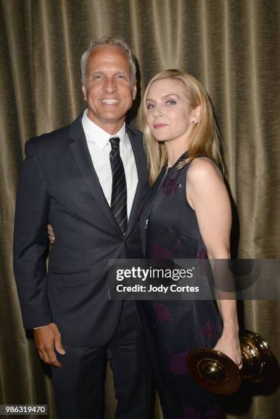
<svg viewBox="0 0 280 419"><path fill-rule="evenodd" d="M32 138L16 196L14 274L25 328L55 322L64 344L102 346L123 301L108 301L108 259L141 257L138 212L147 187L142 133L127 127L138 172L127 234L112 215L94 170L79 116ZM55 231L49 253L47 223Z"/></svg>

